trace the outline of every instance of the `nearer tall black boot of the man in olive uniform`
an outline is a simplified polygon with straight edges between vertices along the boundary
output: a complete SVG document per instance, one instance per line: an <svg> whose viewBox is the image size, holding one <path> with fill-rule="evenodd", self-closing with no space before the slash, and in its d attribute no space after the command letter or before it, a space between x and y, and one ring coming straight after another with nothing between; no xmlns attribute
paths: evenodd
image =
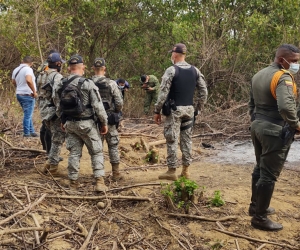
<svg viewBox="0 0 300 250"><path fill-rule="evenodd" d="M265 231L279 231L283 228L281 224L273 222L267 217L267 208L271 202L274 186L274 182L257 186L255 215L251 219L251 225L254 228Z"/></svg>

